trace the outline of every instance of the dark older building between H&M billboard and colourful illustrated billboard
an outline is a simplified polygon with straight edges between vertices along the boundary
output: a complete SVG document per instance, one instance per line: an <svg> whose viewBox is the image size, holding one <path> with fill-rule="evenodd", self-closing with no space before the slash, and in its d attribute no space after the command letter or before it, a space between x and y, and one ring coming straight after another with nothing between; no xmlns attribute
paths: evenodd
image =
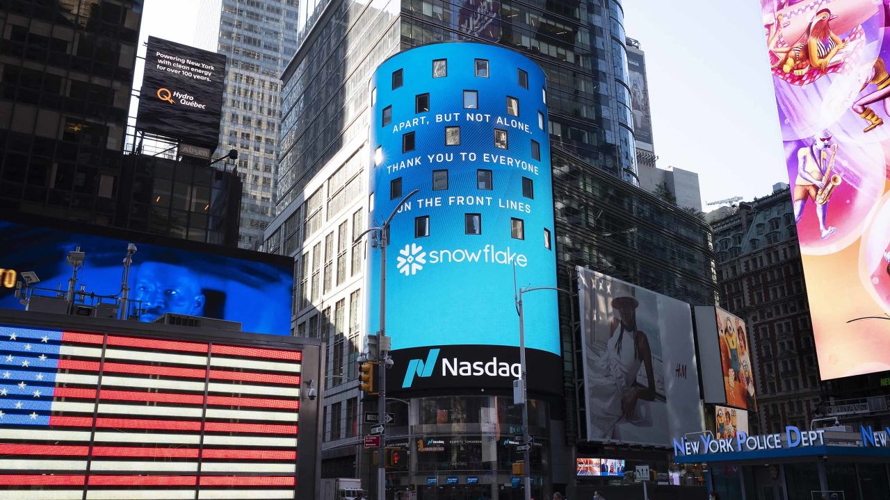
<svg viewBox="0 0 890 500"><path fill-rule="evenodd" d="M757 384L752 433L807 427L821 399L809 303L787 184L711 222L726 310L748 322Z"/></svg>

